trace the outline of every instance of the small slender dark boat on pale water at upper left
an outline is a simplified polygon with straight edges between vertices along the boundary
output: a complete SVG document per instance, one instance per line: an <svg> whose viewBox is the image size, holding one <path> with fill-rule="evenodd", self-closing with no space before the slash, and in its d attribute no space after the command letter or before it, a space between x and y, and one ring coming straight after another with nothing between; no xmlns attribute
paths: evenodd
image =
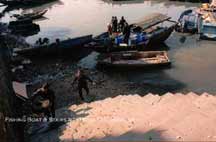
<svg viewBox="0 0 216 142"><path fill-rule="evenodd" d="M35 20L35 19L42 18L43 15L47 11L48 10L43 10L43 11L33 12L33 13L27 13L27 14L23 14L23 15L17 15L17 14L15 14L13 16L16 17L18 20L24 20L24 19Z"/></svg>

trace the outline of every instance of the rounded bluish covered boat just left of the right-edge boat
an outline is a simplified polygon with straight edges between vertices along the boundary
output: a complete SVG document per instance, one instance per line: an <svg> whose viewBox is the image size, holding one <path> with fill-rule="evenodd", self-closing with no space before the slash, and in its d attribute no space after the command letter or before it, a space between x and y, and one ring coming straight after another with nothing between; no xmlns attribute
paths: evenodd
<svg viewBox="0 0 216 142"><path fill-rule="evenodd" d="M176 31L183 33L196 33L199 15L192 9L185 10L178 19Z"/></svg>

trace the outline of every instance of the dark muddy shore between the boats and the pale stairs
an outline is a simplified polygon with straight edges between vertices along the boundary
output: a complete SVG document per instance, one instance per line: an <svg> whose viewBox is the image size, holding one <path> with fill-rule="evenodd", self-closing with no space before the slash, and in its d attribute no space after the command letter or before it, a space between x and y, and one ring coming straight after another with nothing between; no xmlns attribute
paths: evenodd
<svg viewBox="0 0 216 142"><path fill-rule="evenodd" d="M78 95L77 86L71 85L75 72L80 66L79 63L79 61L72 59L32 60L31 64L14 73L14 80L30 84L30 95L43 83L50 83L51 89L55 91L56 95L56 108L80 104L83 102ZM85 72L96 83L96 85L89 83L89 96L86 96L84 92L86 102L127 94L145 95L152 92L162 95L172 90L177 92L178 87L181 86L181 84L178 86L176 84L167 85L167 83L148 81L130 82L128 77L133 75L131 75L131 72L125 71L102 72L95 68L86 68ZM134 71L133 73L136 74Z"/></svg>

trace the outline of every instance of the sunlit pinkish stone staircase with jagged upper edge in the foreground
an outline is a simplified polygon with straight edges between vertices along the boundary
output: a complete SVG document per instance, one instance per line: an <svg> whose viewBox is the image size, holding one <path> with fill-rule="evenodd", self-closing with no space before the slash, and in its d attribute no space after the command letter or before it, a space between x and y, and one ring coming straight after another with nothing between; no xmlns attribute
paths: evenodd
<svg viewBox="0 0 216 142"><path fill-rule="evenodd" d="M58 140L37 141L216 141L216 96L208 93L119 95L56 113L73 120Z"/></svg>

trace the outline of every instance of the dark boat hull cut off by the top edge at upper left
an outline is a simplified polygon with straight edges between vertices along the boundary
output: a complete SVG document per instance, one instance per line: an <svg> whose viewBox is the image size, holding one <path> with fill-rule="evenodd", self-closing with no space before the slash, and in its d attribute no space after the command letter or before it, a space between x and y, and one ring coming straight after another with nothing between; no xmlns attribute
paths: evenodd
<svg viewBox="0 0 216 142"><path fill-rule="evenodd" d="M8 6L18 6L18 5L34 6L34 5L45 4L52 1L55 0L0 0L0 3Z"/></svg>

